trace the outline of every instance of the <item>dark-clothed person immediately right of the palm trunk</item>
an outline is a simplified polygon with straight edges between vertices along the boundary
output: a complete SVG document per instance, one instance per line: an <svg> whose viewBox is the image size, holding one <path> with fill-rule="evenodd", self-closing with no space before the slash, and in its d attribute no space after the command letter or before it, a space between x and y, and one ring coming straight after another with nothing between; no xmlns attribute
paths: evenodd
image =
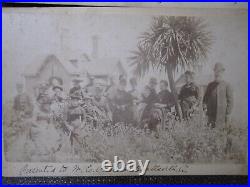
<svg viewBox="0 0 250 187"><path fill-rule="evenodd" d="M187 120L200 103L200 91L199 87L194 83L193 72L185 72L185 81L186 84L181 88L179 100L183 118Z"/></svg>

